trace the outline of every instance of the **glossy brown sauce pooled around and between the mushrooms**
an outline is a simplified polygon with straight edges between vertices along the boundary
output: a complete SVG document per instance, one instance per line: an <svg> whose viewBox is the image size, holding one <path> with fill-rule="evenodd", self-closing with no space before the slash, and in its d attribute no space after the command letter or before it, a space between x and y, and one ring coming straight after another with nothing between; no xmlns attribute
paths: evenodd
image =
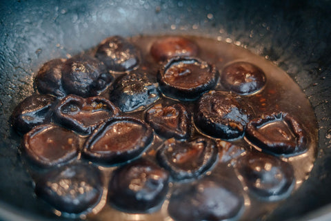
<svg viewBox="0 0 331 221"><path fill-rule="evenodd" d="M147 71L150 75L157 76L157 72L160 68L159 64L154 60L152 55L150 55L150 47L154 41L157 41L159 36L137 36L132 37L129 40L141 51L141 64L139 69ZM266 112L273 111L283 111L292 116L295 116L301 125L305 128L307 133L307 144L308 151L295 156L277 156L284 162L291 164L294 169L294 191L301 186L301 184L308 178L310 171L317 153L317 123L314 117L314 111L305 97L304 93L301 91L299 86L280 68L274 66L269 61L253 55L248 50L243 48L226 44L221 41L216 41L214 39L206 39L200 37L188 37L199 47L199 52L197 57L203 61L208 61L210 64L214 64L219 73L223 70L225 66L232 64L237 61L246 61L255 66L258 66L263 70L266 77L266 83L263 89L259 90L257 93L245 96L245 99L252 105L252 110L254 110L254 115L261 116ZM95 48L89 50L88 54L94 55ZM118 73L114 73L114 78L119 77ZM214 90L227 90L218 81L217 86ZM109 91L106 90L101 94L101 96L109 99ZM170 106L177 104L178 101L170 99L168 97L160 97L157 99L155 104L162 104L162 106ZM181 102L187 108L189 113L194 113L196 110L197 101ZM122 113L122 115L128 115L131 117L137 117L144 120L146 113L146 108L143 111L135 111L134 113ZM283 128L286 131L286 125L283 122L274 122L277 124L278 128ZM285 128L284 128L285 127ZM268 126L259 128L260 131L267 130ZM259 198L252 197L250 195L247 186L242 182L241 177L237 174L234 169L234 165L237 159L243 155L245 152L252 151L252 146L250 143L245 141L244 138L240 138L234 141L224 141L221 139L209 137L207 135L201 135L201 131L193 126L191 138L194 137L208 137L214 140L219 148L218 160L212 166L212 169L203 175L204 177L212 176L214 179L222 180L224 177L226 180L232 183L238 189L243 192L244 206L241 209L239 217L236 220L258 220L263 216L268 215L273 209L275 209L282 200L272 201L272 200L262 200ZM81 137L81 144L83 144L86 137ZM291 137L282 137L282 139L292 139ZM154 133L154 141L148 147L148 150L143 153L143 157L150 157L155 160L155 154L157 149L166 139ZM120 144L119 144L120 145ZM276 156L275 156L276 157ZM79 159L78 160L83 160ZM99 170L104 176L105 183L104 189L107 189L108 182L112 175L112 171L116 169L116 166L104 166L99 165ZM39 173L29 170L32 178L39 176ZM81 218L86 218L87 220L167 220L171 221L172 218L168 214L168 204L171 194L180 189L181 186L188 184L190 181L185 182L170 182L168 195L165 201L161 205L161 209L157 211L152 211L150 213L130 213L125 211L119 211L114 209L108 202L106 198L101 198L101 202L92 209L92 212L88 215L81 215ZM106 195L106 193L104 193ZM180 209L180 208L179 208ZM59 211L57 214L61 215Z"/></svg>

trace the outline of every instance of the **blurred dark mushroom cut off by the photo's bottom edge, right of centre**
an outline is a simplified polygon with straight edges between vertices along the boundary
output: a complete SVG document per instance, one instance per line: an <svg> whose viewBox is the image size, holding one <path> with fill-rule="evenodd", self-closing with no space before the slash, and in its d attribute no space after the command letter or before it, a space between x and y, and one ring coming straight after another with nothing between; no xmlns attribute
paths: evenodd
<svg viewBox="0 0 331 221"><path fill-rule="evenodd" d="M243 210L240 191L223 180L183 184L172 193L168 212L174 220L231 220Z"/></svg>

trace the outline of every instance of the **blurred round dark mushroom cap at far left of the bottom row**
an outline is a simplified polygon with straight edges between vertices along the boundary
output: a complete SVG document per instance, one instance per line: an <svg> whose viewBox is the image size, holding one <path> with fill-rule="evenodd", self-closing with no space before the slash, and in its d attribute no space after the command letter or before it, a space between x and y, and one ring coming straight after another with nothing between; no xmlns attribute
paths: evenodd
<svg viewBox="0 0 331 221"><path fill-rule="evenodd" d="M101 174L90 164L68 164L40 177L35 192L61 212L88 213L101 200Z"/></svg>

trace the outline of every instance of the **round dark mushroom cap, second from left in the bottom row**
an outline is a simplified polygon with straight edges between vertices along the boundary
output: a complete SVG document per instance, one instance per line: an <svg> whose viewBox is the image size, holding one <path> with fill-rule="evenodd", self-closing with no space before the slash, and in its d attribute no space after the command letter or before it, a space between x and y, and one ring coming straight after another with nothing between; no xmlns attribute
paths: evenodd
<svg viewBox="0 0 331 221"><path fill-rule="evenodd" d="M168 172L150 160L131 162L112 173L108 201L130 213L155 211L168 193L168 180Z"/></svg>

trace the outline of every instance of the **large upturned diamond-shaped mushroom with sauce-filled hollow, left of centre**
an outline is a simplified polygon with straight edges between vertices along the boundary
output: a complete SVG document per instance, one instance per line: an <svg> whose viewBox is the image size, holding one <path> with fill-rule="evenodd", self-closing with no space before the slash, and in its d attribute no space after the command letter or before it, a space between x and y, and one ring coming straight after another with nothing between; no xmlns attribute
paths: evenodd
<svg viewBox="0 0 331 221"><path fill-rule="evenodd" d="M152 128L133 117L116 117L102 124L84 144L83 156L106 164L133 160L153 140Z"/></svg>

